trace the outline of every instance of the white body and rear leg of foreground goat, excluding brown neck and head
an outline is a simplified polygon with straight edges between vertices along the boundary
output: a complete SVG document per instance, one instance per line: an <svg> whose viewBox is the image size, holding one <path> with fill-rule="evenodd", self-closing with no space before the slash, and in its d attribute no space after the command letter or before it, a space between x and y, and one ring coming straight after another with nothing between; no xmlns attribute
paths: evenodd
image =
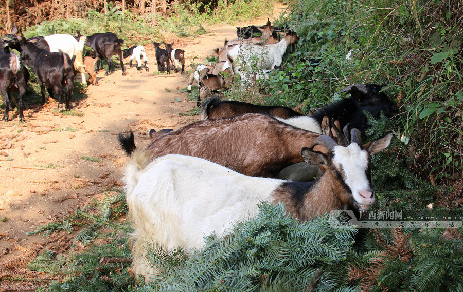
<svg viewBox="0 0 463 292"><path fill-rule="evenodd" d="M270 202L271 193L283 182L247 177L201 158L173 154L140 169L135 161L145 157L143 152L134 153L124 181L135 230L133 268L146 279L154 272L145 258L147 243L154 240L168 249L200 248L204 236L215 232L221 237L234 222L252 218L257 203Z"/></svg>

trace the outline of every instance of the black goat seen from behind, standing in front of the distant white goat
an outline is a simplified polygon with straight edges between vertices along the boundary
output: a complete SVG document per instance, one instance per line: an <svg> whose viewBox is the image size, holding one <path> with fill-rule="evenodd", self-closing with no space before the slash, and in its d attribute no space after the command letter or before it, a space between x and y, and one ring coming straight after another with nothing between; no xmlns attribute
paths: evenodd
<svg viewBox="0 0 463 292"><path fill-rule="evenodd" d="M53 97L59 94L58 110L69 110L70 96L73 94L76 74L74 71L74 60L62 52L50 53L35 46L33 43L20 37L21 59L27 66L37 74L40 88L42 90L42 105L45 104L45 88L48 94ZM63 102L65 106L63 107Z"/></svg>

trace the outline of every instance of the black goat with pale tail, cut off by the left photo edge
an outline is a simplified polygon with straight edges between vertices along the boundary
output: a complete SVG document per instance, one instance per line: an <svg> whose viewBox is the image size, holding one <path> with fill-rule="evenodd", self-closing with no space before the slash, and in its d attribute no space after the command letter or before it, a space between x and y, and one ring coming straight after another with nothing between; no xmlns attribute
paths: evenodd
<svg viewBox="0 0 463 292"><path fill-rule="evenodd" d="M3 42L1 42L3 44ZM21 64L21 59L14 53L6 54L0 50L0 94L2 94L5 104L5 113L2 121L8 121L9 110L13 110L11 105L11 92L18 91L17 111L19 121L24 122L23 114L23 94L26 92L26 85L30 75L27 68Z"/></svg>

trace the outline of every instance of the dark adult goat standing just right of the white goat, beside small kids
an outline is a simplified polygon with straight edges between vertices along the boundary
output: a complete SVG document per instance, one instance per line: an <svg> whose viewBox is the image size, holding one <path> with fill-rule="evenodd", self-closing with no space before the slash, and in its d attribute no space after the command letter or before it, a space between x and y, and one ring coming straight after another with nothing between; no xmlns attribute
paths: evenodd
<svg viewBox="0 0 463 292"><path fill-rule="evenodd" d="M80 32L77 31L77 36L80 37ZM109 75L111 70L111 56L118 55L120 67L122 68L122 76L126 75L126 69L124 68L124 63L122 60L122 51L120 46L124 43L122 38L118 38L115 33L112 32L103 32L95 33L91 36L87 36L85 45L91 47L96 56L98 56L98 70L103 69L102 60L106 57L108 61L108 69L104 75Z"/></svg>

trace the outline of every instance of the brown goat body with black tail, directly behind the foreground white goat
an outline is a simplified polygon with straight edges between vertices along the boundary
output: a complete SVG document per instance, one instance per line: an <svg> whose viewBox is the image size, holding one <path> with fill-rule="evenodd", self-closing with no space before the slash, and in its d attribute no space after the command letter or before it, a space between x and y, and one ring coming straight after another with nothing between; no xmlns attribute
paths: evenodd
<svg viewBox="0 0 463 292"><path fill-rule="evenodd" d="M148 146L149 160L166 154L190 155L248 176L275 177L284 167L303 162L302 147L312 145L319 135L270 115L248 113L202 120L159 135ZM130 155L135 149L133 133L121 133L118 139ZM326 152L323 147L316 150Z"/></svg>

